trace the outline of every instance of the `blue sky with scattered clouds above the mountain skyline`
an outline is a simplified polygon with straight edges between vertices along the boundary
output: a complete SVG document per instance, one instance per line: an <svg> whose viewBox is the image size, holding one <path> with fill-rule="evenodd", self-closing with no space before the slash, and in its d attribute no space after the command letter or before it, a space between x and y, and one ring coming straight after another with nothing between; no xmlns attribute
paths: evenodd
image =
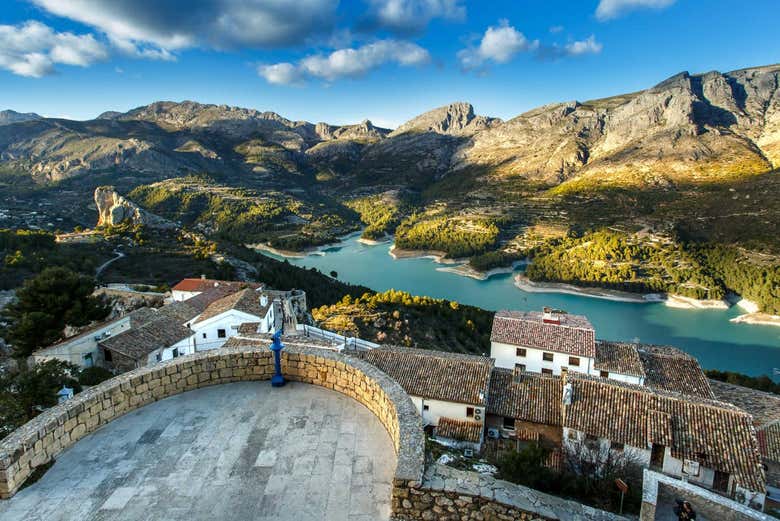
<svg viewBox="0 0 780 521"><path fill-rule="evenodd" d="M510 118L778 62L778 19L777 0L4 0L0 108L190 99L397 126L469 101Z"/></svg>

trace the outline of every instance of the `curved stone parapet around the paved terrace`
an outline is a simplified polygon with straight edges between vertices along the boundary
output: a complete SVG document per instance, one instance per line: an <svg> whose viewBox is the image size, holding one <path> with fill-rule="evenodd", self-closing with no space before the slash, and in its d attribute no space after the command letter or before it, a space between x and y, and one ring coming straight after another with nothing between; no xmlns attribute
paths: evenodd
<svg viewBox="0 0 780 521"><path fill-rule="evenodd" d="M129 411L200 387L268 380L273 371L270 351L219 349L136 369L79 393L47 409L0 443L0 498L13 496L36 467ZM289 380L332 389L371 410L395 446L395 484L403 484L403 488L419 485L424 467L422 421L395 380L362 360L298 346L283 351L282 372Z"/></svg>

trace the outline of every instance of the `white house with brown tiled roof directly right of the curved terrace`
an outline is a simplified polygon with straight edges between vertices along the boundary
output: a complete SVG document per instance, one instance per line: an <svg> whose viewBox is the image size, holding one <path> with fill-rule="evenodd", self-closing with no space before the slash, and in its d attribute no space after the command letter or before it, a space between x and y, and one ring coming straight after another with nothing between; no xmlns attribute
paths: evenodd
<svg viewBox="0 0 780 521"><path fill-rule="evenodd" d="M355 354L401 384L423 425L435 435L481 447L493 369L490 358L388 346Z"/></svg>

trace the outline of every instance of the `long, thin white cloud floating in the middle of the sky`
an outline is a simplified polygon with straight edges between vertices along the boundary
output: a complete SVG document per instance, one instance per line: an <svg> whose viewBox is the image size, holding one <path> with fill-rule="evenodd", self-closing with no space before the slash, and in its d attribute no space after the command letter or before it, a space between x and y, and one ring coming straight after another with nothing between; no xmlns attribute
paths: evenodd
<svg viewBox="0 0 780 521"><path fill-rule="evenodd" d="M430 60L428 51L417 44L379 40L355 49L339 49L326 55L307 56L297 65L287 62L261 65L258 67L258 74L269 83L294 85L307 77L326 81L356 78L386 63L411 67L425 65Z"/></svg>

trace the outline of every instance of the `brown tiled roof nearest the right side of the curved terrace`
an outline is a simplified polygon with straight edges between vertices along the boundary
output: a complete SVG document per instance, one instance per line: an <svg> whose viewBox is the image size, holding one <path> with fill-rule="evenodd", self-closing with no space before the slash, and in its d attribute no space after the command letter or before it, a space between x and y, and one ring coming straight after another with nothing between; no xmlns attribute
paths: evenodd
<svg viewBox="0 0 780 521"><path fill-rule="evenodd" d="M485 406L493 360L482 356L383 346L354 353L414 396Z"/></svg>

